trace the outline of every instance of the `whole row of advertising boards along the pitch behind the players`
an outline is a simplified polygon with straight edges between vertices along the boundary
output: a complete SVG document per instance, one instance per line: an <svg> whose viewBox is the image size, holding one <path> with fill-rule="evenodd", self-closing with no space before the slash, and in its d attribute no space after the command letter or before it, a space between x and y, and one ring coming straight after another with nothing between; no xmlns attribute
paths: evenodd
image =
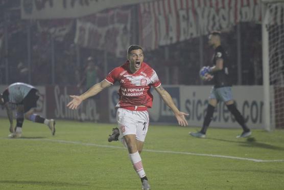
<svg viewBox="0 0 284 190"><path fill-rule="evenodd" d="M208 104L210 86L163 86L173 97L177 107L190 115L186 118L190 126L201 126ZM7 86L0 86L3 92ZM70 86L36 86L41 97L38 101L37 113L46 118L88 120L94 122L116 122L115 104L119 98L119 86L112 86L102 91L97 97L84 101L78 110L66 107L70 94L80 94L83 90ZM244 115L250 128L263 129L263 87L234 86L233 98L237 107ZM149 109L151 123L176 124L172 111L165 105L157 92L152 89L153 107ZM6 117L6 111L1 108L0 116ZM211 122L213 127L238 128L226 105L218 104Z"/></svg>

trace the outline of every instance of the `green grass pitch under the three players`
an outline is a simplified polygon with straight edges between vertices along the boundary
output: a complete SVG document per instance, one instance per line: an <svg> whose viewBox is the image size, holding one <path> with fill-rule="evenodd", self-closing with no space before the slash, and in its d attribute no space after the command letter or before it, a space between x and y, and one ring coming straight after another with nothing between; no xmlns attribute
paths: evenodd
<svg viewBox="0 0 284 190"><path fill-rule="evenodd" d="M22 138L9 139L0 119L0 189L141 189L127 150L107 141L115 126L58 120L52 136L25 120ZM197 130L150 124L141 157L152 189L284 189L284 130L188 135Z"/></svg>

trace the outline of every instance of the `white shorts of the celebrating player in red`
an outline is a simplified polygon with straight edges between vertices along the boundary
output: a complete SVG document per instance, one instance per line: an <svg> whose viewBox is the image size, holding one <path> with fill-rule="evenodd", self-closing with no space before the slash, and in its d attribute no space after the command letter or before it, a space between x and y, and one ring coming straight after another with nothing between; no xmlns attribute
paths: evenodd
<svg viewBox="0 0 284 190"><path fill-rule="evenodd" d="M125 135L136 135L136 140L145 141L149 127L148 111L130 111L119 108L116 111L116 120L119 124L120 138Z"/></svg>

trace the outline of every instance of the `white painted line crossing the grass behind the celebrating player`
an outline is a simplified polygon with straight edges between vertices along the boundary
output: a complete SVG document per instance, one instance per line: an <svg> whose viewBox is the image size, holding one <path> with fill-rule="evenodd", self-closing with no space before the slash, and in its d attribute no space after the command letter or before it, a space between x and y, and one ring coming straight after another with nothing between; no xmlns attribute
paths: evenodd
<svg viewBox="0 0 284 190"><path fill-rule="evenodd" d="M7 139L7 138L1 138L1 139ZM19 138L19 140L51 141L51 142L66 143L66 144L80 144L80 145L85 145L85 146L107 147L107 148L113 148L113 149L126 149L125 147L120 147L120 146L84 143L80 141L55 140L55 139L28 139L28 138L27 139ZM228 159L234 159L234 160L248 160L248 161L253 161L253 162L283 162L284 161L284 160L261 160L261 159L254 159L254 158L242 158L242 157L214 155L214 154L200 154L200 153L174 152L174 151L156 151L156 150L149 150L149 149L144 149L143 152L183 154L183 155L194 155L194 156L209 156L209 157L217 157L217 158L228 158Z"/></svg>

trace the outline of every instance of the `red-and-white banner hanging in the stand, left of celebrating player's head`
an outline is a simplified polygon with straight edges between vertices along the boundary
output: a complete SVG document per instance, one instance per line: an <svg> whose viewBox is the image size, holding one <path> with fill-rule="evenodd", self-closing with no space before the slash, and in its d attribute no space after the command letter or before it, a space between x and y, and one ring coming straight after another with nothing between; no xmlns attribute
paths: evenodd
<svg viewBox="0 0 284 190"><path fill-rule="evenodd" d="M107 50L125 57L130 45L131 10L115 9L78 18L74 42L81 47Z"/></svg>

